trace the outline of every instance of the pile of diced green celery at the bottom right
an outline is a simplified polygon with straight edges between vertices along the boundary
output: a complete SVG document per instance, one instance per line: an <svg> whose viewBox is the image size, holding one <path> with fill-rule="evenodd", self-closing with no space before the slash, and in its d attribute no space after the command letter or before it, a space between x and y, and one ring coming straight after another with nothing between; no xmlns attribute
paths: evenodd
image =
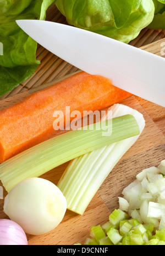
<svg viewBox="0 0 165 256"><path fill-rule="evenodd" d="M100 225L91 227L90 237L86 238L84 245L165 244L165 229L154 231L152 224L139 223L136 219L128 215L127 220L122 220L120 216L121 220L119 221L117 212L119 213L120 209L115 209L109 217L111 219L111 216L114 216L113 220L118 223L118 225L112 226L111 221L108 221L109 229L107 232L103 232L103 227L108 227L108 222L103 224L102 227Z"/></svg>

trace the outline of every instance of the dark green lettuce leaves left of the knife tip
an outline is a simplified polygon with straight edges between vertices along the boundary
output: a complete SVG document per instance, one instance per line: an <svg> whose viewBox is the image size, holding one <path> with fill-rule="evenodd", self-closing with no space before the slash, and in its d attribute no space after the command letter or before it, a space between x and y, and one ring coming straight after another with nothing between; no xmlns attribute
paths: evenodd
<svg viewBox="0 0 165 256"><path fill-rule="evenodd" d="M13 90L34 74L37 43L21 30L15 20L46 18L54 0L0 1L0 96Z"/></svg>

